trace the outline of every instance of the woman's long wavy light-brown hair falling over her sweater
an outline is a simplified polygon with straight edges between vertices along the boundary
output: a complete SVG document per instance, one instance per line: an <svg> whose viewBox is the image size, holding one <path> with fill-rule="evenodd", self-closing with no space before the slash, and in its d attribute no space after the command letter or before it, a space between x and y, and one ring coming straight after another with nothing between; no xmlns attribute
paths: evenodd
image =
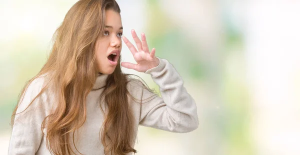
<svg viewBox="0 0 300 155"><path fill-rule="evenodd" d="M53 109L44 118L41 130L46 129L46 146L53 154L74 153L69 142L69 134L74 135L74 131L82 126L86 119L85 99L98 75L95 42L104 32L107 9L120 13L115 0L79 0L68 10L53 35L53 47L46 63L25 84L19 95L18 105L12 113L13 126L14 115L18 114L16 110L22 101L22 94L34 79L46 74L44 86L30 104L45 90L51 88L50 92L54 94L56 107L59 108ZM100 100L104 97L107 107L100 130L105 154L136 152L131 145L135 141L134 118L127 98L127 95L133 96L127 90L127 83L130 80L137 81L147 90L154 92L144 81L129 78L129 75L133 74L122 73L120 59L121 57L113 73L108 75L100 96ZM133 99L138 100L134 97ZM74 136L72 141L75 146ZM76 146L75 149L77 150Z"/></svg>

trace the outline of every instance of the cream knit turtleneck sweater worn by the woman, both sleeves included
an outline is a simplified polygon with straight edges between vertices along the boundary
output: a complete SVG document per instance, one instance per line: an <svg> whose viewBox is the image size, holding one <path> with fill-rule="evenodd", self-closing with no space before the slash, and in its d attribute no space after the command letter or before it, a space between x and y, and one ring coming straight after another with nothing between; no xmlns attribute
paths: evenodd
<svg viewBox="0 0 300 155"><path fill-rule="evenodd" d="M166 59L159 57L158 59L159 64L145 73L150 74L159 86L161 97L157 96L142 103L128 97L134 115L135 135L138 125L171 132L189 132L196 129L198 117L194 99L187 93L182 78L172 64ZM78 131L75 131L75 146L82 154L104 154L99 137L103 121L103 113L99 106L104 103L99 100L99 96L104 89L107 76L101 74L97 77L94 90L90 91L86 98L86 121ZM42 84L43 77L36 78L29 84L17 113L28 106L41 90ZM136 82L129 82L127 88L130 94L138 99L146 99L153 95ZM41 122L51 111L52 99L50 94L42 93L24 112L15 115L17 121L12 127L8 154L50 154L45 143L46 130L43 134L40 128ZM72 141L70 143L72 144ZM79 154L73 146L72 148Z"/></svg>

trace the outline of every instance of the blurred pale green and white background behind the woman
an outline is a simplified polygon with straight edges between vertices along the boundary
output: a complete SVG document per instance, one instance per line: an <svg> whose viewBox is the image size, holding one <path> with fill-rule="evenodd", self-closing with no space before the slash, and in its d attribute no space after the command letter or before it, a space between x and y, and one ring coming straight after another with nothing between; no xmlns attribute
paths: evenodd
<svg viewBox="0 0 300 155"><path fill-rule="evenodd" d="M24 83L47 58L51 36L77 0L0 0L0 154ZM299 154L300 3L117 0L124 35L145 32L197 103L199 127L139 127L137 154ZM270 4L272 3L272 4ZM122 61L134 62L125 45ZM149 75L122 68L145 79Z"/></svg>

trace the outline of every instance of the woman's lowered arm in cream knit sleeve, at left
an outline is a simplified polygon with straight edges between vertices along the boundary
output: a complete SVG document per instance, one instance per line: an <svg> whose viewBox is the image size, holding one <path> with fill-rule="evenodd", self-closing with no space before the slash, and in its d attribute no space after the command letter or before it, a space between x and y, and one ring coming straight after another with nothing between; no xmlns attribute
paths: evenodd
<svg viewBox="0 0 300 155"><path fill-rule="evenodd" d="M41 122L45 117L41 96L25 108L41 90L41 82L40 79L34 79L24 92L23 100L20 99L16 113L21 113L14 117L8 154L34 154L39 147L43 136Z"/></svg>

